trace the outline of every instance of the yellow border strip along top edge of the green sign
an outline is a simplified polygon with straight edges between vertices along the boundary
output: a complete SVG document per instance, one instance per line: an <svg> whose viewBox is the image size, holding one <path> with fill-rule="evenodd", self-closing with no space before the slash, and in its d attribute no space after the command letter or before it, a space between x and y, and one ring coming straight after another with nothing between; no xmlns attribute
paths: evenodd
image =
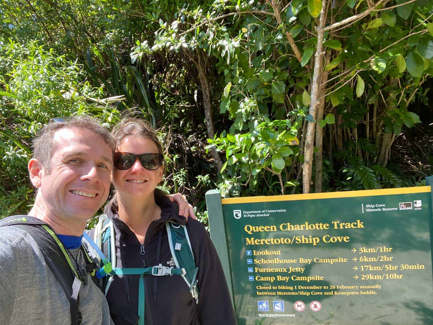
<svg viewBox="0 0 433 325"><path fill-rule="evenodd" d="M430 186L385 188L377 190L349 191L349 192L327 192L294 195L272 195L272 196L250 196L247 198L223 198L222 204L254 203L254 202L276 202L296 200L317 200L320 198L353 198L359 196L394 195L431 192Z"/></svg>

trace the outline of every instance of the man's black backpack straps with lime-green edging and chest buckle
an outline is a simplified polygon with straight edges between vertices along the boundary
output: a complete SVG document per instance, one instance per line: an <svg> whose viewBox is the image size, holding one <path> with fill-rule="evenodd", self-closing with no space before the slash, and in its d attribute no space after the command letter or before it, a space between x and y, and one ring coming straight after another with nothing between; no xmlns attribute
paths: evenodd
<svg viewBox="0 0 433 325"><path fill-rule="evenodd" d="M89 263L80 270L75 271L71 259L65 247L58 239L54 231L45 222L28 215L16 215L0 220L0 227L15 226L25 230L36 241L44 256L45 263L54 273L69 299L71 311L71 325L80 325L82 322L81 312L78 310L81 284L87 284L85 278L87 273L95 275L96 263L92 262L87 251L81 245L83 255ZM94 280L95 282L97 280Z"/></svg>

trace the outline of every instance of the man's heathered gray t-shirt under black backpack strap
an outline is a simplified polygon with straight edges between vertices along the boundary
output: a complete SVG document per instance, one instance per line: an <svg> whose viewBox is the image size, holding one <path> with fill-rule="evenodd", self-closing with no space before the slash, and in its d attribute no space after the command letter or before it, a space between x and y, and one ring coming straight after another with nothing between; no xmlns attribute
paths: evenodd
<svg viewBox="0 0 433 325"><path fill-rule="evenodd" d="M71 253L75 256L78 250ZM78 263L84 263L82 253ZM87 277L87 285L82 284L79 292L81 324L114 324L105 296ZM1 227L0 325L23 324L69 325L70 304L33 238L22 229Z"/></svg>

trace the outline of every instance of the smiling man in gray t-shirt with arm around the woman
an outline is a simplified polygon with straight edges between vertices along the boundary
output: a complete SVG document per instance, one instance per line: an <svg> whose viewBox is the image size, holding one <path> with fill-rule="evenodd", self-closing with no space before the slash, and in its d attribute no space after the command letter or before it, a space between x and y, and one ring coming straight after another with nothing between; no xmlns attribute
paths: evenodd
<svg viewBox="0 0 433 325"><path fill-rule="evenodd" d="M55 233L52 238L60 240L58 247L63 246L65 254L60 258L68 260L75 291L71 297L66 293L38 236L19 225L0 227L0 324L63 325L71 320L72 325L113 324L103 293L90 279L91 261L81 247L87 220L110 192L114 149L110 133L89 117L73 117L48 123L33 144L28 168L38 192L30 218L24 219L45 223L49 227L38 225L38 229L47 227ZM57 245L49 242L49 247Z"/></svg>

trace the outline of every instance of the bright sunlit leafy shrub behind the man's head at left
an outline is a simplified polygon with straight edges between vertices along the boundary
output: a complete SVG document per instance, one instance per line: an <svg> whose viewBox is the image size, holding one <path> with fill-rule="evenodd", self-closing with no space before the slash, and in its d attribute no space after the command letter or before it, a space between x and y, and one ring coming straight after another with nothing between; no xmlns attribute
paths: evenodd
<svg viewBox="0 0 433 325"><path fill-rule="evenodd" d="M31 139L53 117L90 114L115 123L119 112L98 99L101 89L85 80L82 66L38 42L0 41L0 217L32 204L27 162Z"/></svg>

